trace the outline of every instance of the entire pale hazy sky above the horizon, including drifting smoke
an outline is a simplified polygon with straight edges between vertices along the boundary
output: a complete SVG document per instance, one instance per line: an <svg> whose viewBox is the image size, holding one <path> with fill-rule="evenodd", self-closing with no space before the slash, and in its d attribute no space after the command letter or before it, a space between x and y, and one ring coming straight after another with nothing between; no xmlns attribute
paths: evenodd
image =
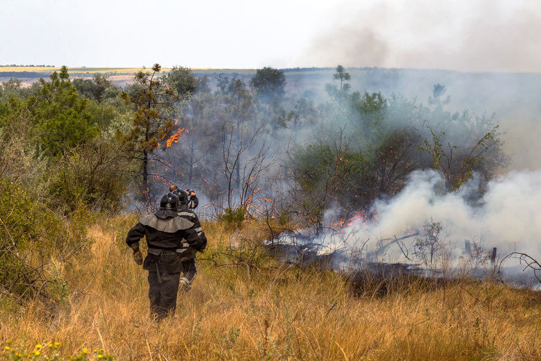
<svg viewBox="0 0 541 361"><path fill-rule="evenodd" d="M540 72L538 0L0 0L0 65Z"/></svg>

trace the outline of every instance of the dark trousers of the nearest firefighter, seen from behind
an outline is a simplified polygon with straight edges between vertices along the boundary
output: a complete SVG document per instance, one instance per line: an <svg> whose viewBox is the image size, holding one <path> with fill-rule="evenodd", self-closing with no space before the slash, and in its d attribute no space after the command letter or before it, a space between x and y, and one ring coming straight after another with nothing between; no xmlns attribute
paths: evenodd
<svg viewBox="0 0 541 361"><path fill-rule="evenodd" d="M151 317L158 321L175 313L180 273L166 274L148 272L148 299L151 301Z"/></svg>

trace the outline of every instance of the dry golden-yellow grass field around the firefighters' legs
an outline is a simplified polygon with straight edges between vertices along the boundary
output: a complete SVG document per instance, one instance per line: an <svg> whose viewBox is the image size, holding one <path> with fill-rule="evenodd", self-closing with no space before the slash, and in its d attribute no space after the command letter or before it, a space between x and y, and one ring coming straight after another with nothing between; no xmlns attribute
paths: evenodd
<svg viewBox="0 0 541 361"><path fill-rule="evenodd" d="M365 278L223 253L230 234L204 224L209 249L174 317L148 320L146 272L124 244L135 217L92 227L94 244L63 267L70 297L0 310L5 343L59 342L74 355L104 349L117 360L541 360L541 296L505 285ZM250 228L252 227L252 228ZM264 233L264 232L263 232ZM251 238L250 238L251 237ZM236 242L258 244L249 226ZM246 247L250 254L250 246ZM363 289L363 291L359 291Z"/></svg>

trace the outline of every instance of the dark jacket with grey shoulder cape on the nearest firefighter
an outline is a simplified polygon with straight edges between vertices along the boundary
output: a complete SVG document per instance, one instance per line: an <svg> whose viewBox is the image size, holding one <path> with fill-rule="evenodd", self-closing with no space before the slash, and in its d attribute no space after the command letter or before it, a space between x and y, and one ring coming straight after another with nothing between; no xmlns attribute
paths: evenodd
<svg viewBox="0 0 541 361"><path fill-rule="evenodd" d="M148 254L143 263L147 271L181 272L182 264L175 250L180 247L182 240L197 251L203 246L195 224L178 217L173 211L158 211L154 215L140 218L128 231L126 244L135 251L139 249L142 237L146 238L148 245Z"/></svg>

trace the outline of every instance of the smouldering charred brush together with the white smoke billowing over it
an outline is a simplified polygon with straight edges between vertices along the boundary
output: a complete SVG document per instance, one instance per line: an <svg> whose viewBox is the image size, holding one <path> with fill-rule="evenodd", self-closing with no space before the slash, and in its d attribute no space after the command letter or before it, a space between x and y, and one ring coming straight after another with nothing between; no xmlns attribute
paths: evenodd
<svg viewBox="0 0 541 361"><path fill-rule="evenodd" d="M509 255L526 254L530 264L541 259L541 172L501 176L475 202L468 194L475 187L445 193L441 182L437 171L414 172L400 194L374 203L375 220L353 217L332 223L326 217L325 227L284 232L266 244L282 262L298 265L345 272L447 273L537 287L539 271L528 267L524 256ZM434 225L436 237L430 235Z"/></svg>

